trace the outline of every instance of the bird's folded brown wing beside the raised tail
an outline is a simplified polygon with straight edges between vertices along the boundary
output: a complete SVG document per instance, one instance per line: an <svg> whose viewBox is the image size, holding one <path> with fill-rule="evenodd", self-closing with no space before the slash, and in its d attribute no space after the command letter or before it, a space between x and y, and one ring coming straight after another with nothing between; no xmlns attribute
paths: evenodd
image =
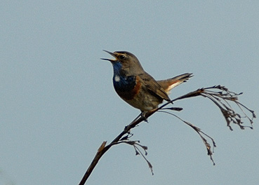
<svg viewBox="0 0 259 185"><path fill-rule="evenodd" d="M143 73L138 76L140 76L147 89L150 90L150 93L161 97L163 100L170 101L170 98L168 97L164 88L162 88L161 85L159 85L159 83L157 83L157 81L152 76L150 76L150 74Z"/></svg>

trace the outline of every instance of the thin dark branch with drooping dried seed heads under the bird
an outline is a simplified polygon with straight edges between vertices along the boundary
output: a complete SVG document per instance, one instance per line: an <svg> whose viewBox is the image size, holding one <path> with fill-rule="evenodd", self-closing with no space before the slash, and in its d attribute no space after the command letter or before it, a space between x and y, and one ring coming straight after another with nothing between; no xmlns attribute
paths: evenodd
<svg viewBox="0 0 259 185"><path fill-rule="evenodd" d="M154 109L152 111L148 111L145 114L145 117L142 116L142 114L140 114L129 125L127 125L124 128L124 130L107 146L105 146L107 142L102 142L101 146L98 149L98 152L95 154L95 157L93 158L91 165L86 170L86 173L84 174L84 177L81 179L79 185L85 184L86 180L90 176L91 172L93 172L93 169L97 165L98 161L109 150L109 148L111 148L112 146L114 146L116 144L121 144L121 143L130 144L131 146L133 146L136 154L142 155L142 157L146 160L147 164L149 165L150 170L152 171L151 163L147 160L147 158L145 158L145 156L147 155L147 146L140 145L139 141L130 141L129 140L129 138L132 136L131 129L135 128L135 126L137 126L142 121L147 121L147 118L152 116L152 114L154 114L157 111L164 111L164 110L181 111L182 108L179 108L179 107L166 108L166 106L168 106L168 104L171 104L178 100L183 100L186 98L197 97L197 96L208 97L208 99L211 100L220 109L223 116L225 117L227 126L230 128L230 130L232 130L232 127L230 125L231 123L239 125L239 127L241 129L244 129L246 127L253 129L252 124L253 124L253 118L256 117L255 113L253 110L245 107L244 104L241 104L240 102L238 102L237 97L241 94L242 93L239 93L239 94L233 93L230 90L228 90L227 88L225 88L224 86L215 85L215 86L212 86L209 88L200 88L198 90L194 90L191 93L187 93L186 95L182 95L180 97L175 98L174 100L166 102L165 104L161 105L161 107ZM232 109L229 102L234 102L234 104L237 104L237 107L239 107L239 109L241 110L242 116L241 116L241 114L237 114L234 111L234 109ZM248 113L251 114L251 117L249 117L246 114L246 111L248 111ZM164 111L164 112L168 113L167 111ZM168 114L171 114L171 113L168 113ZM206 135L206 133L202 132L200 128L197 128L197 126L192 125L192 123L182 120L180 117L176 116L175 114L171 114L171 115L175 116L176 118L179 118L182 122L189 125L191 128L193 128L199 134L199 136L201 137L202 141L204 142L204 144L206 146L208 156L210 156L210 158L213 162L213 165L215 165L213 158L212 158L213 151L211 151L211 145L207 142L205 137L207 137L208 139L211 139L213 147L215 147L215 142L214 142L213 138L210 137L209 135ZM241 121L242 118L248 119L248 121L251 123L251 126L242 125L243 124L243 121ZM139 147L145 151L145 156L142 154ZM152 174L153 174L153 172L152 172Z"/></svg>

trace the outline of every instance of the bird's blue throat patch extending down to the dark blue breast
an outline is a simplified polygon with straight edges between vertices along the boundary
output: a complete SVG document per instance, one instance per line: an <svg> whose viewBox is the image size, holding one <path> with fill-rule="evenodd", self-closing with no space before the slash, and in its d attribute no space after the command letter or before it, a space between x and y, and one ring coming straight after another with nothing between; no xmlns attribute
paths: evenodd
<svg viewBox="0 0 259 185"><path fill-rule="evenodd" d="M122 64L120 62L116 62L112 64L112 66L114 71L112 80L115 90L121 92L133 90L135 86L135 76L121 75L120 71Z"/></svg>

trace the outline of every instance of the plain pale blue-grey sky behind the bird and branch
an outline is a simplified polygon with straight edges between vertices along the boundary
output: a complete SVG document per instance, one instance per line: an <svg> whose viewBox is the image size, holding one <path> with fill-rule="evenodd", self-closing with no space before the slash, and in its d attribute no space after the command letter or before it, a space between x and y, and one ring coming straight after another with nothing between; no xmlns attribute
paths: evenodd
<svg viewBox="0 0 259 185"><path fill-rule="evenodd" d="M138 116L115 93L102 50L133 53L156 79L193 73L172 99L220 84L243 92L239 101L258 114L258 8L259 1L1 1L0 184L79 184L100 144ZM206 98L175 107L215 139L215 166L192 128L156 113L131 138L148 146L154 175L132 146L119 144L86 184L258 184L258 119L253 130L230 131Z"/></svg>

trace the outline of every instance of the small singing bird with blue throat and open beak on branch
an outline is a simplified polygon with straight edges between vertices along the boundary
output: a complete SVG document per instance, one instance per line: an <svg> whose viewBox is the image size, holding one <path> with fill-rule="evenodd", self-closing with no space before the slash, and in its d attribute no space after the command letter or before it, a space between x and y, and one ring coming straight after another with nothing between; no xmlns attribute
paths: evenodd
<svg viewBox="0 0 259 185"><path fill-rule="evenodd" d="M147 111L157 109L163 100L170 102L171 99L168 97L170 90L192 77L192 73L185 73L156 81L142 68L138 58L132 53L103 51L114 57L114 59L101 58L112 63L114 90L122 100L139 109L144 117Z"/></svg>

